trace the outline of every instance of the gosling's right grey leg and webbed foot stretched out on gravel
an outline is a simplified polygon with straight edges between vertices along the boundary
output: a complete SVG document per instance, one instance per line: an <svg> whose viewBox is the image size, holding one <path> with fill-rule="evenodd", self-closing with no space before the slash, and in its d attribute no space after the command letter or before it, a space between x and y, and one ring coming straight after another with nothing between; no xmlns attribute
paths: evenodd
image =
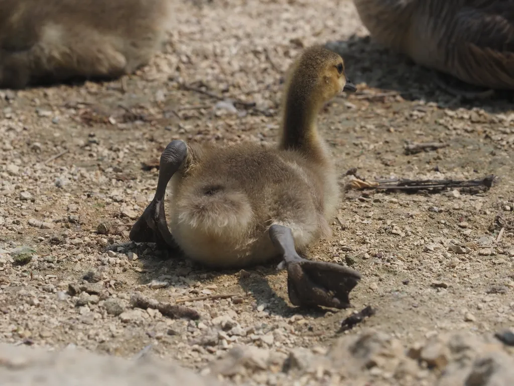
<svg viewBox="0 0 514 386"><path fill-rule="evenodd" d="M279 267L287 268L287 290L293 305L350 307L348 295L361 278L357 271L300 257L295 250L291 230L286 226L271 225L269 236L284 256Z"/></svg>

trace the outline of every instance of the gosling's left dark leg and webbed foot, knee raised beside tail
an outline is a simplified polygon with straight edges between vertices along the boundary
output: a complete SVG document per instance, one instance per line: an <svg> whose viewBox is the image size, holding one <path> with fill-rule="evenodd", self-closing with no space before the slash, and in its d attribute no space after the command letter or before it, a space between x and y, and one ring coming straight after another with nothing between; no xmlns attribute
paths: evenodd
<svg viewBox="0 0 514 386"><path fill-rule="evenodd" d="M144 209L142 216L132 226L128 238L136 242L155 242L159 248L176 248L177 244L168 229L164 213L166 186L187 156L187 146L182 141L172 141L161 154L159 178L154 199Z"/></svg>

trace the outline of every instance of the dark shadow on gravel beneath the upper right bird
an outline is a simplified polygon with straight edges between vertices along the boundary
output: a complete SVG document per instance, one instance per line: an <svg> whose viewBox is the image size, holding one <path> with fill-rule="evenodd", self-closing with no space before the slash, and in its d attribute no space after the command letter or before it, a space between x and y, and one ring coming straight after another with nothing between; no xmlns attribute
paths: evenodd
<svg viewBox="0 0 514 386"><path fill-rule="evenodd" d="M341 55L347 75L355 84L366 83L369 87L400 95L405 100L435 102L439 107L451 110L481 108L489 113L499 113L512 109L512 91L495 90L492 95L480 99L452 95L439 84L444 82L464 91L479 90L449 75L417 65L407 56L378 44L370 36L354 35L345 41L327 42L326 47Z"/></svg>

